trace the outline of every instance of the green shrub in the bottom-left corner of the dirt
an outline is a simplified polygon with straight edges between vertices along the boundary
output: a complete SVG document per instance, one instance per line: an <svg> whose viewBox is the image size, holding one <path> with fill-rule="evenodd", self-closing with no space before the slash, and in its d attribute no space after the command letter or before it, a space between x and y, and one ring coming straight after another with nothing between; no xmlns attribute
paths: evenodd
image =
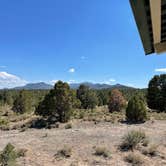
<svg viewBox="0 0 166 166"><path fill-rule="evenodd" d="M2 166L14 166L16 164L17 157L15 147L8 143L0 154L0 163Z"/></svg>

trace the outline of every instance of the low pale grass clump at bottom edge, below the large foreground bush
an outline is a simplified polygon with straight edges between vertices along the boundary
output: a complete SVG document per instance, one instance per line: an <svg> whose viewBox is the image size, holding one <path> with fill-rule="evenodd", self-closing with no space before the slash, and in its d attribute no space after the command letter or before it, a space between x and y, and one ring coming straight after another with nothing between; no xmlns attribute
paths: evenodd
<svg viewBox="0 0 166 166"><path fill-rule="evenodd" d="M143 159L141 158L141 156L135 153L129 153L124 160L128 163L131 163L132 166L138 166L143 164Z"/></svg>

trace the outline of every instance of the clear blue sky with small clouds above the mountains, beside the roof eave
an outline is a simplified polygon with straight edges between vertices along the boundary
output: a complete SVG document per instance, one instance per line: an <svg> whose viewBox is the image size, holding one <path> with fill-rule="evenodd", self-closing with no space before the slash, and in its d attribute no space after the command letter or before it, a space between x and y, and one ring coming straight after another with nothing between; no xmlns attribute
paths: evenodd
<svg viewBox="0 0 166 166"><path fill-rule="evenodd" d="M142 88L166 72L166 54L145 56L128 0L5 0L0 20L0 88L55 80Z"/></svg>

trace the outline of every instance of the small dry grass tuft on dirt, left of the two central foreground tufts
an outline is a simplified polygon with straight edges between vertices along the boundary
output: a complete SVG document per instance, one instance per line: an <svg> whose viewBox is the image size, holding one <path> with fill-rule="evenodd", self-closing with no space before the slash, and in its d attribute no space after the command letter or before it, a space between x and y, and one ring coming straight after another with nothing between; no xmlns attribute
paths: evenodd
<svg viewBox="0 0 166 166"><path fill-rule="evenodd" d="M63 149L60 149L56 154L55 157L62 157L62 158L69 158L72 155L72 149L70 147L64 146Z"/></svg>

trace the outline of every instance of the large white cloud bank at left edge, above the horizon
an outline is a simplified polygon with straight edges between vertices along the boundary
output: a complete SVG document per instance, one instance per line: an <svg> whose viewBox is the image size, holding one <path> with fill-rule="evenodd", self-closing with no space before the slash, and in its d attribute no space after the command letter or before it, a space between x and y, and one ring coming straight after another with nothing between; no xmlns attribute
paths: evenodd
<svg viewBox="0 0 166 166"><path fill-rule="evenodd" d="M16 86L23 86L26 83L28 83L28 82L16 75L9 74L4 71L0 72L0 89L13 88Z"/></svg>

